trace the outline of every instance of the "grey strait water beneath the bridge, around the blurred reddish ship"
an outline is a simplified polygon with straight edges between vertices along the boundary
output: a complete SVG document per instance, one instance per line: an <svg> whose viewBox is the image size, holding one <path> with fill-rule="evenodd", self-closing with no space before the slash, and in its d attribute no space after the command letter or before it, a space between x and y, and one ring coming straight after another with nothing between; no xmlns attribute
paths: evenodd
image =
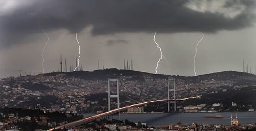
<svg viewBox="0 0 256 131"><path fill-rule="evenodd" d="M235 118L238 116L238 124L256 123L256 112L221 112L221 113L121 113L121 120L129 120L131 122L145 122L149 127L158 125L177 124L231 124L231 114ZM93 116L94 114L85 113L84 117ZM221 119L204 119L204 116L222 116ZM118 119L115 114L113 119Z"/></svg>

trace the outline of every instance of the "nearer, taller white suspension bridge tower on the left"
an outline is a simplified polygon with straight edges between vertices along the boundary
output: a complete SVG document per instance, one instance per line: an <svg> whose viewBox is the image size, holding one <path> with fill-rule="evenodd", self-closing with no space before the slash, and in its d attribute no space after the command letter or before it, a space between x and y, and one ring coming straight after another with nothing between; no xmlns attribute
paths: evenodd
<svg viewBox="0 0 256 131"><path fill-rule="evenodd" d="M116 94L111 94L110 92L110 81L116 81ZM120 103L119 103L119 81L117 78L109 78L108 81L108 92L109 92L109 111L110 111L110 98L117 98L117 109L119 111L120 109ZM120 119L120 113L119 113L119 119Z"/></svg>

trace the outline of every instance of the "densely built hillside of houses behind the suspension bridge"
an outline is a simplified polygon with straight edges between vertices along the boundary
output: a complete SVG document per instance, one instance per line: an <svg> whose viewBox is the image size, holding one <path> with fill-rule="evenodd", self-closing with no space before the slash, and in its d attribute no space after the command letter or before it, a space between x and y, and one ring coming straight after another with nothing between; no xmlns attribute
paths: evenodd
<svg viewBox="0 0 256 131"><path fill-rule="evenodd" d="M229 72L230 74L228 75L230 76L224 76L226 80L221 80L218 77L223 76L218 75L215 76L215 79L213 76L202 79L199 78L200 76L186 78L153 75L137 71L129 71L132 74L125 75L124 72L123 74L120 73L122 70L116 69L98 70L98 72L95 72L99 74L100 72L112 72L112 74L109 74L109 77L115 77L119 73L117 77L119 78L120 85L120 99L122 99L120 101L121 107L131 103L166 99L168 78L170 88L173 88L173 78L175 78L176 98L196 97L206 93L227 91L231 88L253 86L255 78L254 75L247 75L244 78L239 75L233 76L233 74L237 74L236 72ZM81 73L86 74L83 71ZM42 109L48 112L103 112L107 110L108 76L105 77L84 79L59 73L57 75L45 74L2 78L1 97L3 101L1 101L1 105L6 107ZM233 79L231 79L232 77ZM240 83L241 80L244 83ZM248 82L245 80L248 80ZM116 85L111 83L111 86L115 87ZM115 92L115 90L111 92ZM173 92L170 93L172 94L171 98L173 98ZM47 103L44 103L44 101L47 101ZM112 108L117 107L115 101L112 101L111 104L113 105Z"/></svg>

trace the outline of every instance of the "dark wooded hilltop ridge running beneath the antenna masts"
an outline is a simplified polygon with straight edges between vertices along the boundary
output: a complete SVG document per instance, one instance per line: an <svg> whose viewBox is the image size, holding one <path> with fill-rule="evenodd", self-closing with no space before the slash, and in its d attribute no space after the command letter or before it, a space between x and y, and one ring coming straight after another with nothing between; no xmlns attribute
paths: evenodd
<svg viewBox="0 0 256 131"><path fill-rule="evenodd" d="M116 78L120 76L138 76L138 75L150 75L152 77L158 78L168 78L168 77L175 77L175 78L192 78L195 80L198 79L224 79L227 78L234 78L234 77L255 77L253 74L249 74L247 72L239 72L239 71L220 71L220 72L213 72L209 74L203 74L198 76L180 76L180 75L165 75L165 74L152 74L149 72L142 72L142 71L135 71L135 70L122 70L122 69L104 69L104 70L94 70L94 71L72 71L72 72L50 72L46 74L39 74L39 76L54 76L54 75L66 75L69 77L79 77L85 80L103 80L107 78Z"/></svg>

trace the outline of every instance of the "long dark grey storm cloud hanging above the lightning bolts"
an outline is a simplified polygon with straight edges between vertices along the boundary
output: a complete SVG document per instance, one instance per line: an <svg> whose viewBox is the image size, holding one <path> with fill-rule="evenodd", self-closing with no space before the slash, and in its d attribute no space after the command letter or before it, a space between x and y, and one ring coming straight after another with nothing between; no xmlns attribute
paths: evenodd
<svg viewBox="0 0 256 131"><path fill-rule="evenodd" d="M254 20L253 0L243 0L246 9L227 18L220 13L197 12L185 6L184 0L57 0L37 1L27 7L0 15L0 48L21 42L24 36L68 29L80 32L93 25L93 35L129 32L217 32L249 27ZM232 7L232 1L225 7Z"/></svg>

